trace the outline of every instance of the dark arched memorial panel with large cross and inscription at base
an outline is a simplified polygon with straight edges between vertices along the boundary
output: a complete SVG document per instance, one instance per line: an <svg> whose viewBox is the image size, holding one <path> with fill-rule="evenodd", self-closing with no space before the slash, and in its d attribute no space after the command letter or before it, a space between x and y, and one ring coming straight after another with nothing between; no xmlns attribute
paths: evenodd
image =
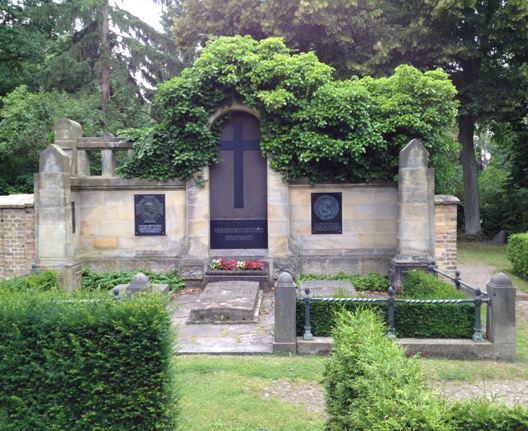
<svg viewBox="0 0 528 431"><path fill-rule="evenodd" d="M211 248L267 248L267 166L260 152L260 122L250 114L233 114L219 151L220 162L210 168Z"/></svg>

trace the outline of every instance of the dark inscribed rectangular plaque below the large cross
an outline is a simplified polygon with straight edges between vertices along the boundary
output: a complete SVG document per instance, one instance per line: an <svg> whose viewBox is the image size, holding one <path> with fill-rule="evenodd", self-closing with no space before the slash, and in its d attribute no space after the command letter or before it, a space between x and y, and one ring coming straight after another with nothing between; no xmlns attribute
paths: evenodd
<svg viewBox="0 0 528 431"><path fill-rule="evenodd" d="M268 248L268 221L211 220L211 248Z"/></svg>

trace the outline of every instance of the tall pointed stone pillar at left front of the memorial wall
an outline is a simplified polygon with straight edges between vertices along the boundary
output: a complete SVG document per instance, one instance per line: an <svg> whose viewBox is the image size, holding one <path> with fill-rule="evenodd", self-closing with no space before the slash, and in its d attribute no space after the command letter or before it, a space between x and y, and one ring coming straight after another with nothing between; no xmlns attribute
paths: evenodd
<svg viewBox="0 0 528 431"><path fill-rule="evenodd" d="M37 265L61 274L63 286L73 289L80 282L75 262L71 214L71 160L57 145L40 155L35 176Z"/></svg>

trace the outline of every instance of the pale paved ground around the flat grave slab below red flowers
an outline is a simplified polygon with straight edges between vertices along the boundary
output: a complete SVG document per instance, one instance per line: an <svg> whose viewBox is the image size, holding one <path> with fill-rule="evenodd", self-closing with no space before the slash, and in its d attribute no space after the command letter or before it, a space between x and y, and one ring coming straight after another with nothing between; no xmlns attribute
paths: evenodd
<svg viewBox="0 0 528 431"><path fill-rule="evenodd" d="M175 310L173 322L178 328L178 353L254 354L272 352L275 319L273 292L264 293L257 323L186 324L199 294L200 289L184 289L171 303Z"/></svg>

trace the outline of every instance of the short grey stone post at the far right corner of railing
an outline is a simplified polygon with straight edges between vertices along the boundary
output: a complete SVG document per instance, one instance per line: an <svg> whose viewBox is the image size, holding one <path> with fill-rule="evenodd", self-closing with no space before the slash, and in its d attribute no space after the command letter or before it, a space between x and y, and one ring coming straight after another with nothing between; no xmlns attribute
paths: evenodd
<svg viewBox="0 0 528 431"><path fill-rule="evenodd" d="M502 272L491 277L487 285L488 306L486 337L500 359L515 359L515 298L517 288Z"/></svg>

